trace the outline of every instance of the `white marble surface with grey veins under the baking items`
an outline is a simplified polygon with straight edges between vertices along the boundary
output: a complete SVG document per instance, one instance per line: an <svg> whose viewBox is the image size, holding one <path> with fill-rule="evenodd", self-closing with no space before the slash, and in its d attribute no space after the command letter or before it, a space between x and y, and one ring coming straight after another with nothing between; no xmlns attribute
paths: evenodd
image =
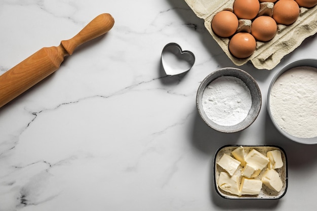
<svg viewBox="0 0 317 211"><path fill-rule="evenodd" d="M0 74L58 46L101 13L108 34L76 49L60 69L0 108L0 210L313 210L316 145L283 138L266 111L267 89L282 66L316 58L304 40L273 70L241 66L263 102L245 131L221 134L197 114L195 95L212 71L233 66L181 0L2 0ZM167 77L163 47L196 56L183 76ZM280 200L228 200L215 192L213 156L226 144L275 144L288 155Z"/></svg>

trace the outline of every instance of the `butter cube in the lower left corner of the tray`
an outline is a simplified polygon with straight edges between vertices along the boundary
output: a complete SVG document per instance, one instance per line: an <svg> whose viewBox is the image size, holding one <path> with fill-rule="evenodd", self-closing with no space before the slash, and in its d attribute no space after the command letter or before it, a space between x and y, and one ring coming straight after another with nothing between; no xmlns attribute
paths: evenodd
<svg viewBox="0 0 317 211"><path fill-rule="evenodd" d="M240 195L238 179L236 176L230 177L227 173L221 172L218 179L218 186L228 193Z"/></svg>

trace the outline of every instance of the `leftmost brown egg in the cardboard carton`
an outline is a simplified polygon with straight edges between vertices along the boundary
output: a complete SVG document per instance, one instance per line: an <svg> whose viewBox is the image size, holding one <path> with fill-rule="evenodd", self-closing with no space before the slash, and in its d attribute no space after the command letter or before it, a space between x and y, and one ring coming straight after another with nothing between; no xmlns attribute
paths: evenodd
<svg viewBox="0 0 317 211"><path fill-rule="evenodd" d="M229 37L233 35L239 25L237 17L230 11L221 11L217 13L212 21L211 28L221 37Z"/></svg>

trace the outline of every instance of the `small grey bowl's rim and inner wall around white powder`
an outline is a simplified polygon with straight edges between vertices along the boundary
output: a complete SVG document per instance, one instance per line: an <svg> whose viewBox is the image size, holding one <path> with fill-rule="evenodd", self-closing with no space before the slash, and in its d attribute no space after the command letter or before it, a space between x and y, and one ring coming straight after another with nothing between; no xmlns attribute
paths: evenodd
<svg viewBox="0 0 317 211"><path fill-rule="evenodd" d="M251 108L247 114L247 117L244 120L242 120L240 123L237 123L235 125L226 126L226 125L217 124L216 122L212 121L207 116L203 108L202 99L203 99L203 93L205 89L207 88L210 82L212 82L213 80L221 76L234 76L236 78L239 78L246 84L246 86L250 90L250 94L252 98ZM196 107L202 119L212 129L222 133L235 133L235 132L239 132L248 128L248 126L250 126L254 122L254 120L257 118L261 109L261 105L262 105L262 96L261 96L260 88L257 82L255 81L255 79L246 71L238 69L238 68L233 68L233 67L222 68L209 74L202 81L199 89L197 90L197 95L196 95Z"/></svg>

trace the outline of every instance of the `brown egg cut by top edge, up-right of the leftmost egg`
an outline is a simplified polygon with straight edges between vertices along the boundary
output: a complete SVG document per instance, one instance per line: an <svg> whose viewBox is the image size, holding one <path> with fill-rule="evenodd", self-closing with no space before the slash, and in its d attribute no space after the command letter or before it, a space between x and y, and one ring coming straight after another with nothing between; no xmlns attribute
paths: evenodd
<svg viewBox="0 0 317 211"><path fill-rule="evenodd" d="M233 3L233 13L239 19L253 19L259 13L259 0L235 0Z"/></svg>

